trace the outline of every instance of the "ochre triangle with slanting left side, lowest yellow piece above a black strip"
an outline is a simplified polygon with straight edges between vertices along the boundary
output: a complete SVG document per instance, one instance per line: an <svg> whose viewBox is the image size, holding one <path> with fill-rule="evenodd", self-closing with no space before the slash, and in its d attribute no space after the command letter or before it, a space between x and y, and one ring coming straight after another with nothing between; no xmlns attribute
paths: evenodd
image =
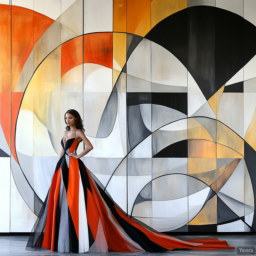
<svg viewBox="0 0 256 256"><path fill-rule="evenodd" d="M188 225L207 225L217 223L217 196L213 196L204 208L191 220Z"/></svg>

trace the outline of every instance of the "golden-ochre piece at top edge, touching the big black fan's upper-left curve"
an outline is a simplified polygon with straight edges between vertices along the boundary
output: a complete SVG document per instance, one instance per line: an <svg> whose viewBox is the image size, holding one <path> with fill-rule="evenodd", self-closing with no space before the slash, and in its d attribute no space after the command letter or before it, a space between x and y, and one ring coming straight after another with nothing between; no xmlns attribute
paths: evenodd
<svg viewBox="0 0 256 256"><path fill-rule="evenodd" d="M187 7L187 0L153 0L151 3L151 28L164 18Z"/></svg>

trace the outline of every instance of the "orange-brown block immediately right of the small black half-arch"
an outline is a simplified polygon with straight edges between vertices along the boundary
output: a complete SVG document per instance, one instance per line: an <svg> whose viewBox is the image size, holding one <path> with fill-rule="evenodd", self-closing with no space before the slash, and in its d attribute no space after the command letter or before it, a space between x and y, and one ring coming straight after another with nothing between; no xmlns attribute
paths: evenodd
<svg viewBox="0 0 256 256"><path fill-rule="evenodd" d="M188 140L189 158L216 158L216 143L210 140Z"/></svg>

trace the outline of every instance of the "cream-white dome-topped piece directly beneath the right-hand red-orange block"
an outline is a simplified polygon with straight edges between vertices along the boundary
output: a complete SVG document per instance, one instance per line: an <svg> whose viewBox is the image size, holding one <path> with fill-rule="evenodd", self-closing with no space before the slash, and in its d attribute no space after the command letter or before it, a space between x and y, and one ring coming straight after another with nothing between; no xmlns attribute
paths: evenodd
<svg viewBox="0 0 256 256"><path fill-rule="evenodd" d="M87 64L87 65L86 65ZM84 64L84 92L112 92L112 69L98 64Z"/></svg>

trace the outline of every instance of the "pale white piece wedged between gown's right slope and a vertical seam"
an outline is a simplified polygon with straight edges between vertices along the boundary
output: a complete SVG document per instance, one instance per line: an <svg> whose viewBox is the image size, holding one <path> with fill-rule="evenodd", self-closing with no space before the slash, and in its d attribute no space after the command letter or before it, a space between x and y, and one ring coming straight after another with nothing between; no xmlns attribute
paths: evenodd
<svg viewBox="0 0 256 256"><path fill-rule="evenodd" d="M126 176L112 176L108 183L107 191L114 200L114 202L124 211L127 212L127 177Z"/></svg>

